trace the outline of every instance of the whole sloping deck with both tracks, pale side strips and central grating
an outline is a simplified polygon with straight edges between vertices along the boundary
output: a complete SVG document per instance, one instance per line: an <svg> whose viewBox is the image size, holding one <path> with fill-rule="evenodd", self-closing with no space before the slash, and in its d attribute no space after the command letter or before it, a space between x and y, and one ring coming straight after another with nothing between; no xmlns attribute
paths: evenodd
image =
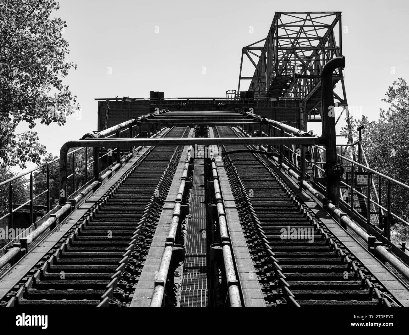
<svg viewBox="0 0 409 335"><path fill-rule="evenodd" d="M158 120L176 115L181 122L193 124L205 118L211 125L209 120L216 117L237 124L243 121L234 112L168 113ZM186 129L172 128L168 137L182 133L192 137L193 128ZM202 132L203 127L196 131ZM210 137L243 136L229 126L208 131ZM2 305L12 301L14 305L149 306L188 150L188 146L175 148L142 149L57 229L31 246L0 280ZM249 148L254 146L229 144L223 150ZM210 201L203 178L206 162L198 159L193 164L179 306L218 304L209 292L214 274L208 269L212 266L209 241L202 235ZM408 288L268 158L235 153L218 157L216 166L243 306L388 306L394 302L409 306ZM152 193L158 183L160 201L155 202ZM282 229L294 228L310 229L312 243L282 238ZM137 242L128 249L133 238ZM206 273L196 276L200 269ZM124 271L115 276L118 270Z"/></svg>

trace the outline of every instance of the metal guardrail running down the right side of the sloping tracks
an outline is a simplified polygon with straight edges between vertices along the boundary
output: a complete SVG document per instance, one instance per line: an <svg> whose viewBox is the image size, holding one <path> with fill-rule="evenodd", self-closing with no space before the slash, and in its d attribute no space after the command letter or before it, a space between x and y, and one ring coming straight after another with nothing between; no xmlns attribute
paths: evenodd
<svg viewBox="0 0 409 335"><path fill-rule="evenodd" d="M243 113L247 113L242 111ZM290 132L285 131L283 128L273 126L268 123L265 118L258 115L251 115L253 118L261 121L262 124L269 126L269 131L275 135L274 132L279 132L279 136L297 137L297 131ZM264 121L263 121L264 120ZM270 128L271 127L271 128ZM248 137L252 137L245 130L239 127L243 133ZM275 128L275 129L274 129ZM364 150L360 141L353 144L337 145L338 147L353 148L359 146L358 160L363 160L367 163ZM311 159L308 160L305 157L306 148L308 146L286 146L275 145L268 146L267 152L278 153L278 161L285 162L289 169L297 171L299 173L300 180L308 180L315 189L321 193L326 193L325 185L325 170L323 169L323 159L321 158L326 148L319 145L310 146ZM288 156L285 155L288 153ZM391 225L393 222L399 222L402 225L409 225L406 218L401 218L391 211L391 189L401 191L408 191L409 186L395 180L383 173L371 169L369 166L365 166L359 162L355 162L351 158L337 154L339 163L343 163L345 166L345 173L347 174L347 182L339 178L340 187L344 190L339 192L339 207L345 211L353 220L355 220L361 227L366 229L370 234L375 235L382 243L390 244L392 246L392 252L402 258L405 262L409 263L409 254L406 249L399 247L391 241ZM299 162L298 162L299 161ZM309 167L312 171L311 174L306 173L306 168ZM357 170L357 171L356 171ZM366 175L366 183L357 189L355 174ZM399 193L399 192L398 192ZM361 206L356 206L357 202L361 202ZM384 202L382 204L381 202ZM362 202L364 202L364 212L362 212ZM361 210L361 211L359 211ZM400 242L402 243L402 242Z"/></svg>

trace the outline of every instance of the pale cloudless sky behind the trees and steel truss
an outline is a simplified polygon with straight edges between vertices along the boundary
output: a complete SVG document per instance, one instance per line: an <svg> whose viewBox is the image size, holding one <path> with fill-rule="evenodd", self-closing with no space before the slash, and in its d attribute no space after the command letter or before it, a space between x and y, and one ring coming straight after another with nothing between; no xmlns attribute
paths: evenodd
<svg viewBox="0 0 409 335"><path fill-rule="evenodd" d="M409 2L403 0L59 2L54 15L67 21L67 61L78 64L65 83L83 110L63 127L34 128L54 155L64 142L97 129L94 98L149 97L151 90L164 91L165 98L224 97L226 90L237 89L241 48L267 36L276 11L342 11L342 25L348 27L342 36L348 104L362 106L370 120L384 107L380 99L388 85L398 77L409 81ZM246 82L242 88L247 87ZM320 124L310 126L320 132Z"/></svg>

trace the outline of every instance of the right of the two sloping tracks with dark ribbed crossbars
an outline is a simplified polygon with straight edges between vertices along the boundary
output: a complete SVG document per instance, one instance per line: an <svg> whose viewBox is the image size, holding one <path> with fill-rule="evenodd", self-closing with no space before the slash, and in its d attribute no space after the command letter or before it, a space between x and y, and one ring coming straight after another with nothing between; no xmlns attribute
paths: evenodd
<svg viewBox="0 0 409 335"><path fill-rule="evenodd" d="M239 136L231 127L213 129L218 137ZM390 306L384 288L260 155L222 160L268 305Z"/></svg>

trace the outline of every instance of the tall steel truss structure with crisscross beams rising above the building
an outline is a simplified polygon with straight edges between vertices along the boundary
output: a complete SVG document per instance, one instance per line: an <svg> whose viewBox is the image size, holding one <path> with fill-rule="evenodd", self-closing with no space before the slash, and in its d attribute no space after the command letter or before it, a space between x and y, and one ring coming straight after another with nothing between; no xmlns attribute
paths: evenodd
<svg viewBox="0 0 409 335"><path fill-rule="evenodd" d="M301 98L301 129L306 121L321 121L321 71L332 58L342 55L341 12L276 12L267 37L242 49L241 80L249 79L248 90L255 97ZM243 76L243 58L254 65L253 76ZM346 111L348 105L342 69L333 73L334 85L341 82L342 92L334 92L335 106ZM352 143L350 131L348 142Z"/></svg>

